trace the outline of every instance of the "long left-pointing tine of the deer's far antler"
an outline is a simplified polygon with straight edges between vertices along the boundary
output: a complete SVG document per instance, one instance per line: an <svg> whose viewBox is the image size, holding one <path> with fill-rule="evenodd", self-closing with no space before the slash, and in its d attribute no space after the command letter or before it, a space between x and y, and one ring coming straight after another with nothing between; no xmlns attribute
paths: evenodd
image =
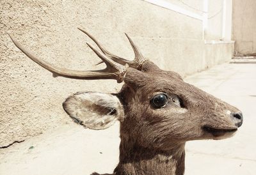
<svg viewBox="0 0 256 175"><path fill-rule="evenodd" d="M80 29L79 27L77 27L77 29L79 29L80 31L82 31L84 34L86 34L87 36L89 36L89 38L91 38L93 40L93 42L95 42L97 44L97 46L99 47L99 49L108 57L110 57L111 59L113 59L113 61L121 64L121 65L126 65L126 64L131 64L132 61L129 61L127 59L124 59L122 57L118 57L114 54L112 54L111 52L109 52L108 50L104 49L104 47L102 47L102 45L87 31L84 31L83 29ZM100 64L100 63L99 63Z"/></svg>

